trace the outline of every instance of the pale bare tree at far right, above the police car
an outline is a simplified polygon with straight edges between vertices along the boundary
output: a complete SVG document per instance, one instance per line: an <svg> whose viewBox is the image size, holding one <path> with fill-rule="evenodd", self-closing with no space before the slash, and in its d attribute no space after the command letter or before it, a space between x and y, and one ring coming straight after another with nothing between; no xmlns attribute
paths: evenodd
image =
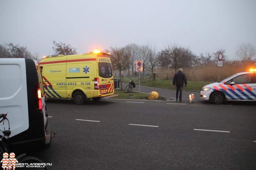
<svg viewBox="0 0 256 170"><path fill-rule="evenodd" d="M247 43L241 44L236 50L236 57L241 60L248 61L252 60L256 56L256 49L254 45Z"/></svg>

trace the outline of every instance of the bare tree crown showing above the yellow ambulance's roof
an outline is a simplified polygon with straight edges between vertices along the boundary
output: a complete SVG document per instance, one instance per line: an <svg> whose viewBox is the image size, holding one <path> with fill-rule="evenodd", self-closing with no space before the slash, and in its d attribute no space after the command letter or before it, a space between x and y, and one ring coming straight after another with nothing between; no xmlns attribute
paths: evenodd
<svg viewBox="0 0 256 170"><path fill-rule="evenodd" d="M56 43L56 41L52 41L54 47L52 47L53 52L55 54L61 55L74 55L77 54L76 49L71 47L71 45L66 45L65 43Z"/></svg>

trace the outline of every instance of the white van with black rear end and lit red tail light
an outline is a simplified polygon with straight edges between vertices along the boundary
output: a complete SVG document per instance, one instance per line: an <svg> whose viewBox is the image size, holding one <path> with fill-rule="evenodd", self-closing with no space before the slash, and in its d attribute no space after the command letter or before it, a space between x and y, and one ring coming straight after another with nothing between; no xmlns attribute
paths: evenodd
<svg viewBox="0 0 256 170"><path fill-rule="evenodd" d="M11 146L50 147L51 126L38 62L28 58L0 58L0 80L0 113L8 112Z"/></svg>

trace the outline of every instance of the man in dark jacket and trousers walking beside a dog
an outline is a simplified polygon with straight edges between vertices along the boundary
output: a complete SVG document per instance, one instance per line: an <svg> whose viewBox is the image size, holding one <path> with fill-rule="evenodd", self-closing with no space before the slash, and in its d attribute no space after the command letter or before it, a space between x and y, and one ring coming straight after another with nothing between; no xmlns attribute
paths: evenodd
<svg viewBox="0 0 256 170"><path fill-rule="evenodd" d="M178 101L178 96L179 96L179 92L180 92L180 96L179 96L179 102L182 102L182 89L183 89L183 85L185 83L185 87L187 87L187 79L186 79L186 75L183 73L183 69L180 68L179 71L174 74L173 77L173 86L176 86L176 101Z"/></svg>

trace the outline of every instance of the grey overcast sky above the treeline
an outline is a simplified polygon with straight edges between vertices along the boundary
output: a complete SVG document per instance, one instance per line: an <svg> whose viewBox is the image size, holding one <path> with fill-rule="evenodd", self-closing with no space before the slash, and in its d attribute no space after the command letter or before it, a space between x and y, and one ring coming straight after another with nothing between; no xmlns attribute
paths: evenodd
<svg viewBox="0 0 256 170"><path fill-rule="evenodd" d="M238 45L256 48L256 0L0 0L0 44L41 58L53 54L52 41L78 53L176 43L236 59Z"/></svg>

